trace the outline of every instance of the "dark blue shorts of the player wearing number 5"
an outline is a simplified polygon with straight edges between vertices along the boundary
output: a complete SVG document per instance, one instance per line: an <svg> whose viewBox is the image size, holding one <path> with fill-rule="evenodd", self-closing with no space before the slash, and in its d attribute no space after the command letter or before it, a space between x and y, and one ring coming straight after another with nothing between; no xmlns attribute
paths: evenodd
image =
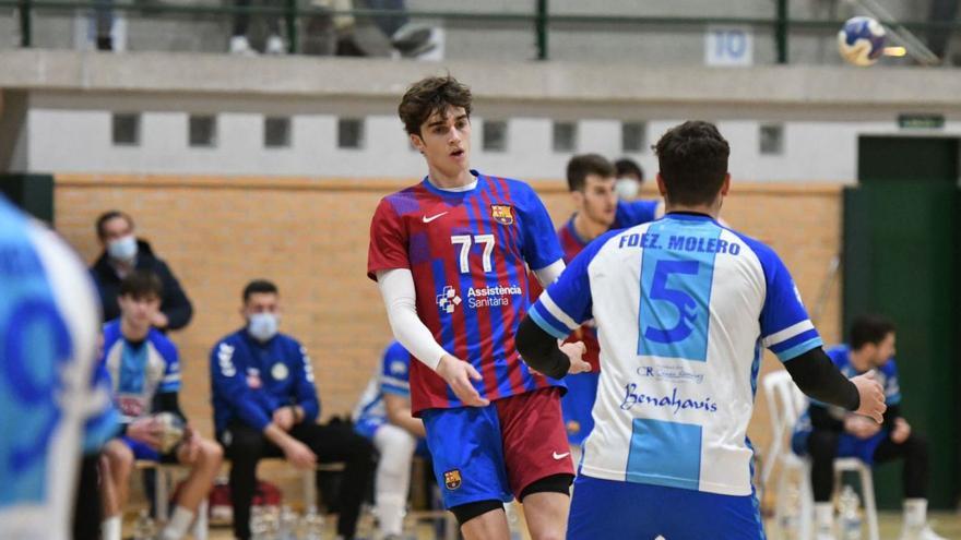
<svg viewBox="0 0 961 540"><path fill-rule="evenodd" d="M764 538L757 496L579 476L574 480L568 540L759 540Z"/></svg>

